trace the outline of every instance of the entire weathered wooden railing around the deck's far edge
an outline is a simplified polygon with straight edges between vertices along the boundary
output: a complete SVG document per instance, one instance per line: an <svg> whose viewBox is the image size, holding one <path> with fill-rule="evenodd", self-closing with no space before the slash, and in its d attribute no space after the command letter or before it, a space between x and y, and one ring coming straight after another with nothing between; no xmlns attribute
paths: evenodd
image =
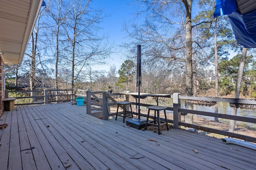
<svg viewBox="0 0 256 170"><path fill-rule="evenodd" d="M28 105L28 104L48 104L56 101L64 102L64 101L74 101L76 96L83 96L86 98L86 113L90 115L94 115L95 117L99 117L104 120L108 120L109 116L115 115L116 113L110 113L110 107L115 106L116 100L113 98L113 96L124 96L124 100L129 100L129 94L121 94L121 93L110 93L110 92L102 92L102 91L90 91L90 90L28 90L28 91L22 91L22 90L14 90L14 91L8 91L5 90L5 96L10 97L12 93L19 94L18 96L15 96L16 100L24 100L23 103L16 103L15 105ZM22 95L24 94L24 95ZM90 96L90 97L88 97ZM174 93L170 95L169 98L172 98L173 100L173 107L168 106L167 110L173 111L173 118L168 119L170 123L173 123L173 127L180 128L181 126L184 127L191 127L194 129L207 131L211 133L217 133L220 135L225 135L229 137L235 137L239 139L244 139L246 141L252 141L256 142L256 133L255 133L255 127L256 127L256 115L253 117L246 117L246 116L239 116L239 115L230 115L226 113L221 113L221 111L218 111L219 113L213 113L213 112L207 112L207 111L200 111L200 110L193 110L192 108L188 109L189 107L186 107L186 109L181 108L181 102L180 100L186 100L186 101L208 101L208 102L227 102L230 105L238 106L238 105L244 105L244 106L252 106L256 107L256 100L250 100L250 99L233 99L233 98L214 98L214 97L198 97L198 96L182 96L179 93ZM27 101L27 102L26 102ZM28 102L29 101L29 102ZM32 101L32 102L31 102ZM136 102L132 102L134 106L137 105ZM149 104L141 103L140 106L151 106ZM129 110L129 108L127 108ZM207 127L207 125L196 125L193 122L188 123L186 121L181 121L183 115L200 115L200 116L206 116L206 117L216 117L218 119L227 119L234 120L234 121L240 121L245 123L251 123L253 124L252 131L254 129L254 135L244 135L244 134L238 134L238 133L232 133L227 130L221 130L216 129L213 127ZM146 117L146 114L141 114L142 117ZM221 125L220 125L221 126Z"/></svg>

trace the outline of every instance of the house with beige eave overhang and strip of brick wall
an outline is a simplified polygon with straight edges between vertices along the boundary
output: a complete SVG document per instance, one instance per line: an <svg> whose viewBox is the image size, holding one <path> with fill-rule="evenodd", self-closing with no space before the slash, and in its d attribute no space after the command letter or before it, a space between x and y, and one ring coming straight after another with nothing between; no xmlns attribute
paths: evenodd
<svg viewBox="0 0 256 170"><path fill-rule="evenodd" d="M4 98L4 63L21 64L43 0L0 1L0 115Z"/></svg>

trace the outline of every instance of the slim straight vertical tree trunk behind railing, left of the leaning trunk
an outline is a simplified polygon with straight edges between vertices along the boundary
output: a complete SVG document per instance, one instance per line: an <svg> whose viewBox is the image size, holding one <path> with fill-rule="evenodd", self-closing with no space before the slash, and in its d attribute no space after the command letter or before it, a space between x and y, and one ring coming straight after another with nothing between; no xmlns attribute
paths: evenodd
<svg viewBox="0 0 256 170"><path fill-rule="evenodd" d="M215 18L214 26L214 55L215 55L215 97L219 97L219 70L218 70L218 46L217 46L217 18ZM218 113L218 102L214 106L214 113ZM214 121L219 121L218 117L214 117Z"/></svg>

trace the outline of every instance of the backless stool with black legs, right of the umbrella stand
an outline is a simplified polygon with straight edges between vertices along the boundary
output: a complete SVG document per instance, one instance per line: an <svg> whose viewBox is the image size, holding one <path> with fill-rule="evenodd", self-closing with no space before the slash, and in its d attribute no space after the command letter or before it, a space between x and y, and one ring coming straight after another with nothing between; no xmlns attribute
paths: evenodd
<svg viewBox="0 0 256 170"><path fill-rule="evenodd" d="M165 110L165 109L167 109L167 107L164 107L164 106L148 106L147 108L148 108L148 116L147 116L145 130L147 130L147 125L148 124L149 125L153 125L153 126L157 126L158 127L158 134L159 135L161 134L160 133L160 127L161 126L166 125L167 130L169 130L168 121L167 121L167 117L166 117L166 110ZM152 120L152 121L148 121L150 110L154 110L155 111L154 120ZM165 121L160 121L160 114L159 114L160 110L164 110ZM156 119L156 112L157 112L157 119ZM157 125L156 125L156 122L157 122Z"/></svg>

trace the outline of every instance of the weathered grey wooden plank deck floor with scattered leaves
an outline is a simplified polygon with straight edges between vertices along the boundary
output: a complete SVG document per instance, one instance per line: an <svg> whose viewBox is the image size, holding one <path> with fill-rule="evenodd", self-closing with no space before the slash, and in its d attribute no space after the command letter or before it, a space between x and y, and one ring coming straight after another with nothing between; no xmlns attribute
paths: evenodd
<svg viewBox="0 0 256 170"><path fill-rule="evenodd" d="M8 123L8 127L0 130L0 170L256 167L256 151L252 149L180 129L158 135L128 127L122 117L104 121L85 112L85 106L70 103L16 107L4 112L0 124Z"/></svg>

